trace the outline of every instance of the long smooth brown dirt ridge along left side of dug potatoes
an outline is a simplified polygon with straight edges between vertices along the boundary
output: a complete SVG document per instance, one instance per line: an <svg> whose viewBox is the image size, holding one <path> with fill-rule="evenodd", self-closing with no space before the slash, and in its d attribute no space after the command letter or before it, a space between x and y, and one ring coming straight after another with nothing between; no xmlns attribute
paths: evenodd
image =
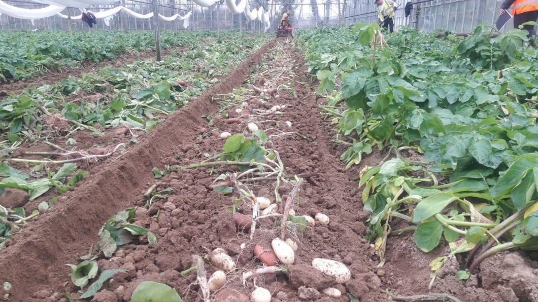
<svg viewBox="0 0 538 302"><path fill-rule="evenodd" d="M97 230L117 211L141 197L144 184L150 182L152 167L161 167L178 145L191 145L204 113L213 113L215 94L224 94L242 83L249 65L260 61L274 41L262 46L236 67L224 80L204 92L194 102L176 112L141 138L123 159L106 164L79 188L63 195L49 212L40 215L15 244L0 253L0 282L12 284L10 298L22 301L45 285L60 284L69 275L65 263L75 263L87 253L89 242L98 240Z"/></svg>

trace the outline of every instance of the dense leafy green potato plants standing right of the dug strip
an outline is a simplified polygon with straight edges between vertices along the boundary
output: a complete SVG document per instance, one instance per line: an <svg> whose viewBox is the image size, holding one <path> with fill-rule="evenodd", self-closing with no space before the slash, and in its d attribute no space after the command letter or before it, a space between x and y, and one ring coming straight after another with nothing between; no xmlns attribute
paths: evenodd
<svg viewBox="0 0 538 302"><path fill-rule="evenodd" d="M499 251L538 248L538 51L523 31L491 32L384 36L356 24L300 35L346 168L387 152L359 175L380 265L387 236L404 232L426 252L442 238L448 256L471 252L471 271Z"/></svg>

